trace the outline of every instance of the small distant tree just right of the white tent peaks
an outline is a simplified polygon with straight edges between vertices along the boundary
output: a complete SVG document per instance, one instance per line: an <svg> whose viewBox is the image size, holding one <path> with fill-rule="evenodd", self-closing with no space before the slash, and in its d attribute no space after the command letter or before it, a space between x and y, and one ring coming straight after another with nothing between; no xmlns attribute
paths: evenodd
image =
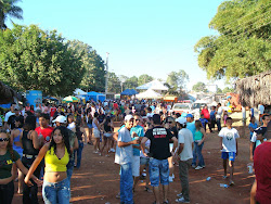
<svg viewBox="0 0 271 204"><path fill-rule="evenodd" d="M183 71L171 72L167 77L167 85L171 91L181 92L186 87L189 75Z"/></svg>

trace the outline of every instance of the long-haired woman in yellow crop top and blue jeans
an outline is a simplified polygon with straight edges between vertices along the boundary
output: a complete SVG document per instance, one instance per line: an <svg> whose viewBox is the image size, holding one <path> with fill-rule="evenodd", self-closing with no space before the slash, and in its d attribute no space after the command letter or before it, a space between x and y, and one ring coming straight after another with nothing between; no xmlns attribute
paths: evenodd
<svg viewBox="0 0 271 204"><path fill-rule="evenodd" d="M27 183L41 160L46 158L42 186L42 196L46 204L56 204L56 201L59 204L69 204L70 190L66 174L69 155L68 131L66 127L56 127L52 132L51 142L42 146L25 177Z"/></svg>

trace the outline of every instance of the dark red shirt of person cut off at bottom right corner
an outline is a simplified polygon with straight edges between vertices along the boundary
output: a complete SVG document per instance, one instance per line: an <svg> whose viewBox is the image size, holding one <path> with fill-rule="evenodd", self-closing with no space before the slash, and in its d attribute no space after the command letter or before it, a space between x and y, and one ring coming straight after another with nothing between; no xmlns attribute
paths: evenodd
<svg viewBox="0 0 271 204"><path fill-rule="evenodd" d="M271 203L271 142L258 145L254 153L257 180L256 200L260 204Z"/></svg>

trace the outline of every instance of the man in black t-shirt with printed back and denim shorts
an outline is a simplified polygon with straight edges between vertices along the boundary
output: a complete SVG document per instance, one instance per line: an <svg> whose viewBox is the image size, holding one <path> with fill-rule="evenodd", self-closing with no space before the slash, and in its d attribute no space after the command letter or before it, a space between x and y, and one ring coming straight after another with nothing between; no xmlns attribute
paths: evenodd
<svg viewBox="0 0 271 204"><path fill-rule="evenodd" d="M159 203L159 178L163 184L164 203L168 203L168 184L169 184L169 165L168 157L175 154L178 145L178 139L171 132L160 125L160 116L153 115L154 128L149 129L141 141L141 150L145 156L150 156L150 180L153 186L155 202ZM151 140L150 154L145 151L145 142ZM173 150L169 151L169 140L173 141Z"/></svg>

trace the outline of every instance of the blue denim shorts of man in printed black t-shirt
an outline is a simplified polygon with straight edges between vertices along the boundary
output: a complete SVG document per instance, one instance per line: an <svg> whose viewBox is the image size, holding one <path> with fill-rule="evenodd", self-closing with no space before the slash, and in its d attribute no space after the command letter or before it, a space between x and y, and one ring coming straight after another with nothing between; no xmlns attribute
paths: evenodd
<svg viewBox="0 0 271 204"><path fill-rule="evenodd" d="M152 187L158 187L159 180L162 184L169 184L169 165L168 160L150 158L150 180Z"/></svg>

